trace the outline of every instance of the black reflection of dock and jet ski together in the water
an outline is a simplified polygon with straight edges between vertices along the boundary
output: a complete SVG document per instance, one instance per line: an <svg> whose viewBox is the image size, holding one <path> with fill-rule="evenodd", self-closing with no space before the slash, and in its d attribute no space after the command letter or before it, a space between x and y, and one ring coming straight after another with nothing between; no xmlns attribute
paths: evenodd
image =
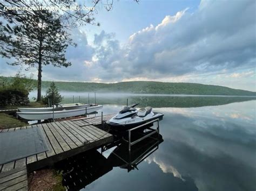
<svg viewBox="0 0 256 191"><path fill-rule="evenodd" d="M144 135L147 133L149 132ZM137 138L140 137L142 136L137 134ZM127 172L138 170L140 162L158 150L163 141L163 137L156 133L132 146L130 152L127 144L121 143L107 158L98 151L91 150L60 161L55 166L63 174L63 186L68 190L79 190L110 172L113 167L125 168Z"/></svg>

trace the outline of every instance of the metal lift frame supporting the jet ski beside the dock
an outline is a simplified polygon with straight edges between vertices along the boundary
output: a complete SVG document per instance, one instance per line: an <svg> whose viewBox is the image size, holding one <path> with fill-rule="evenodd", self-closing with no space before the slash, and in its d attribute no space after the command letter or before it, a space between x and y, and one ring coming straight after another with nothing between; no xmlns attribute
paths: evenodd
<svg viewBox="0 0 256 191"><path fill-rule="evenodd" d="M132 131L134 131L134 130L136 130L136 129L139 129L139 128L142 128L142 127L145 126L145 125L153 124L154 122L157 122L157 129L156 129L156 130L153 130L151 133L149 133L149 134L147 134L147 135L145 135L145 136L143 136L143 137L141 137L141 138L139 138L139 139L137 139L137 140L134 140L134 142L131 142L131 132L132 132ZM152 130L152 129L151 129L151 130ZM141 140L143 140L143 139L145 139L145 138L147 138L147 137L150 137L150 136L153 135L154 133L158 133L158 137L159 137L159 119L154 119L153 121L150 121L150 122L144 123L144 124L142 124L142 125L136 126L135 128L129 129L129 130L127 130L127 131L128 131L129 139L126 140L126 139L123 138L123 140L129 144L129 152L130 152L132 145L134 145L134 144L140 142Z"/></svg>

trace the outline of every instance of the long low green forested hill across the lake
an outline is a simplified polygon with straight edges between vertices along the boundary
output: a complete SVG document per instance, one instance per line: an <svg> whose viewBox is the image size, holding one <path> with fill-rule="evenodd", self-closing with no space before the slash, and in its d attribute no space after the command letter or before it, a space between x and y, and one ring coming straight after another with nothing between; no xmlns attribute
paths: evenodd
<svg viewBox="0 0 256 191"><path fill-rule="evenodd" d="M0 80L10 80L0 77ZM50 81L43 81L43 89L47 89ZM136 94L192 94L192 95L237 95L256 96L256 92L232 89L223 86L204 85L199 83L170 83L153 81L134 81L118 83L93 82L55 82L61 91L96 91L108 93Z"/></svg>

